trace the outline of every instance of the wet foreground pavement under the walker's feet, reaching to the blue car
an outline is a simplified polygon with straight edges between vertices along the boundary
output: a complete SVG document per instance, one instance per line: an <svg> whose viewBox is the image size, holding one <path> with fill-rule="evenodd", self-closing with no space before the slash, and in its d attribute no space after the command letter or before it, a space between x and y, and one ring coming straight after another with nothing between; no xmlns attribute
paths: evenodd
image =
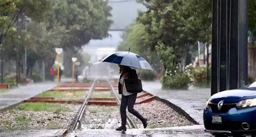
<svg viewBox="0 0 256 137"><path fill-rule="evenodd" d="M211 136L205 133L203 125L154 128L154 129L127 129L126 132L114 129L77 129L69 136Z"/></svg>

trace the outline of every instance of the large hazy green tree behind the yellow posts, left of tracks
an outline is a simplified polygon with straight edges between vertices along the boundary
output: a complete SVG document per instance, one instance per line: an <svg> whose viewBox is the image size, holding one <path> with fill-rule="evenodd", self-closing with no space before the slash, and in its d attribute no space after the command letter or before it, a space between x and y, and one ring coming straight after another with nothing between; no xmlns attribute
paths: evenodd
<svg viewBox="0 0 256 137"><path fill-rule="evenodd" d="M71 57L76 56L79 49L91 39L102 39L109 34L107 31L112 23L108 19L112 9L107 1L54 1L48 14L49 26L64 26L66 35L59 47L64 48L65 74L71 76ZM69 52L69 53L67 53Z"/></svg>

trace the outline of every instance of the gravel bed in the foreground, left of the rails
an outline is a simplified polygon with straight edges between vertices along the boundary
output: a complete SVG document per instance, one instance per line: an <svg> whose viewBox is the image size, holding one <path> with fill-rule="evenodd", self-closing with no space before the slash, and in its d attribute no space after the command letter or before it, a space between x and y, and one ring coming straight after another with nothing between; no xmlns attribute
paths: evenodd
<svg viewBox="0 0 256 137"><path fill-rule="evenodd" d="M26 111L17 108L0 112L0 131L68 128L80 105L61 104L71 112Z"/></svg>

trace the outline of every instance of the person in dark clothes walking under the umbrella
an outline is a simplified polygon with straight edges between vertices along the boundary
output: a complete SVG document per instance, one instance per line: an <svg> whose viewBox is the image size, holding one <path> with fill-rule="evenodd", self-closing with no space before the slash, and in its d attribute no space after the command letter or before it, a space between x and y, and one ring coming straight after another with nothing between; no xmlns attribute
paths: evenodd
<svg viewBox="0 0 256 137"><path fill-rule="evenodd" d="M120 65L120 78L119 78L119 85L122 84L121 88L119 89L119 93L122 93L122 101L120 105L120 113L122 119L122 126L116 128L117 131L126 131L126 107L128 107L128 111L136 116L140 121L142 121L144 128L147 127L147 119L144 118L138 111L133 109L133 105L137 98L137 93L127 92L125 87L125 79L129 79L131 77L138 77L136 74L136 70L131 69L128 66Z"/></svg>

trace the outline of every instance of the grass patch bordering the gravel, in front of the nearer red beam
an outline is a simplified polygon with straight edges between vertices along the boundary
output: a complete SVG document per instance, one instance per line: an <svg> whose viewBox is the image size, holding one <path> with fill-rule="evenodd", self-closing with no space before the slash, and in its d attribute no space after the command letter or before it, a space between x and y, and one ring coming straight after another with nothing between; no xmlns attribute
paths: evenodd
<svg viewBox="0 0 256 137"><path fill-rule="evenodd" d="M49 111L53 113L59 113L62 111L68 111L71 110L69 107L62 106L61 104L53 104L53 103L24 103L20 106L18 106L19 110L31 110L31 111Z"/></svg>

